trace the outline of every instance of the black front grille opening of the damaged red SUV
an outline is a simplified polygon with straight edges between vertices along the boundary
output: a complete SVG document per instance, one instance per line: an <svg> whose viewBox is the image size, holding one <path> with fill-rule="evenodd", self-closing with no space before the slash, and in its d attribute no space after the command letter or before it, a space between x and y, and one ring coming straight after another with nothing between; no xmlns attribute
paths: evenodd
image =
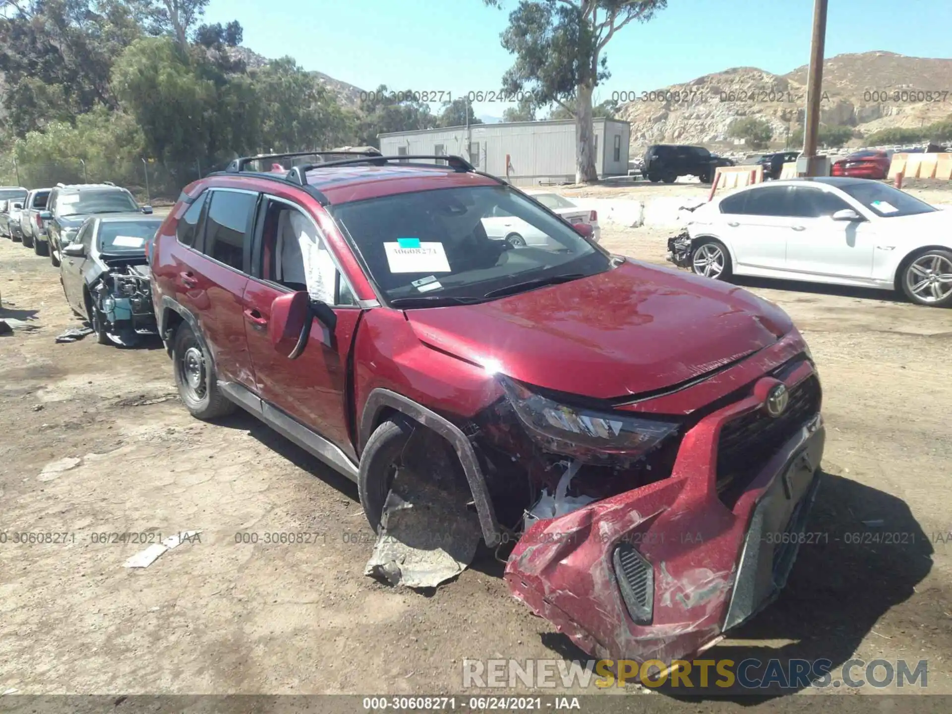
<svg viewBox="0 0 952 714"><path fill-rule="evenodd" d="M818 411L820 382L811 375L790 390L786 410L779 417L757 409L721 428L717 490L724 506L734 507L764 464Z"/></svg>

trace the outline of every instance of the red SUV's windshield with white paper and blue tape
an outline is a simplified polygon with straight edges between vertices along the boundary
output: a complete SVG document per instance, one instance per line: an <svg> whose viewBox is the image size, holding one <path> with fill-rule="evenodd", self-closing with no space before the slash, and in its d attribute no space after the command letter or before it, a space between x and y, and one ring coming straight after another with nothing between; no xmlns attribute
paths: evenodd
<svg viewBox="0 0 952 714"><path fill-rule="evenodd" d="M401 193L331 212L388 300L483 300L516 283L609 267L602 250L506 186Z"/></svg>

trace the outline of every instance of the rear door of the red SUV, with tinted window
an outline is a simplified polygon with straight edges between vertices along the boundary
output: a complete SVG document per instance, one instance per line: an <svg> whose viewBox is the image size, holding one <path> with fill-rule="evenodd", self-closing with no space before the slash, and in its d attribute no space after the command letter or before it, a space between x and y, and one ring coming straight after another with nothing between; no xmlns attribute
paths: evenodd
<svg viewBox="0 0 952 714"><path fill-rule="evenodd" d="M254 377L242 300L259 194L237 188L211 188L207 193L194 245L176 258L175 298L198 320L218 378L250 387Z"/></svg>

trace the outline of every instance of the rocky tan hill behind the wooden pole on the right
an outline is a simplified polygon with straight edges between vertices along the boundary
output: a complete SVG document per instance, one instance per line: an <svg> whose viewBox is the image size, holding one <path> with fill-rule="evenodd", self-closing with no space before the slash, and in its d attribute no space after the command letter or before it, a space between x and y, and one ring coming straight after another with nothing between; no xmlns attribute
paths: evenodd
<svg viewBox="0 0 952 714"><path fill-rule="evenodd" d="M796 129L806 103L807 67L787 74L741 67L639 94L619 118L631 122L631 146L729 141L736 119L770 122L775 143ZM893 52L841 54L823 63L821 121L869 134L890 127L920 127L952 114L952 59Z"/></svg>

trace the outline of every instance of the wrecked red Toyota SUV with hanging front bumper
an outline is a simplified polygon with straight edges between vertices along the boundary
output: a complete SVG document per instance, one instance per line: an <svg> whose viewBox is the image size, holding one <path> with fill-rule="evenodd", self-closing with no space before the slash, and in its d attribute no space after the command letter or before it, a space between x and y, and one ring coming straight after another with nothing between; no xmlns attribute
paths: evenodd
<svg viewBox="0 0 952 714"><path fill-rule="evenodd" d="M189 185L149 248L194 416L247 409L375 528L400 469L455 475L486 544L517 541L513 594L592 655L690 655L783 587L824 439L783 310L611 255L459 157L262 158ZM547 243L488 238L500 210Z"/></svg>

